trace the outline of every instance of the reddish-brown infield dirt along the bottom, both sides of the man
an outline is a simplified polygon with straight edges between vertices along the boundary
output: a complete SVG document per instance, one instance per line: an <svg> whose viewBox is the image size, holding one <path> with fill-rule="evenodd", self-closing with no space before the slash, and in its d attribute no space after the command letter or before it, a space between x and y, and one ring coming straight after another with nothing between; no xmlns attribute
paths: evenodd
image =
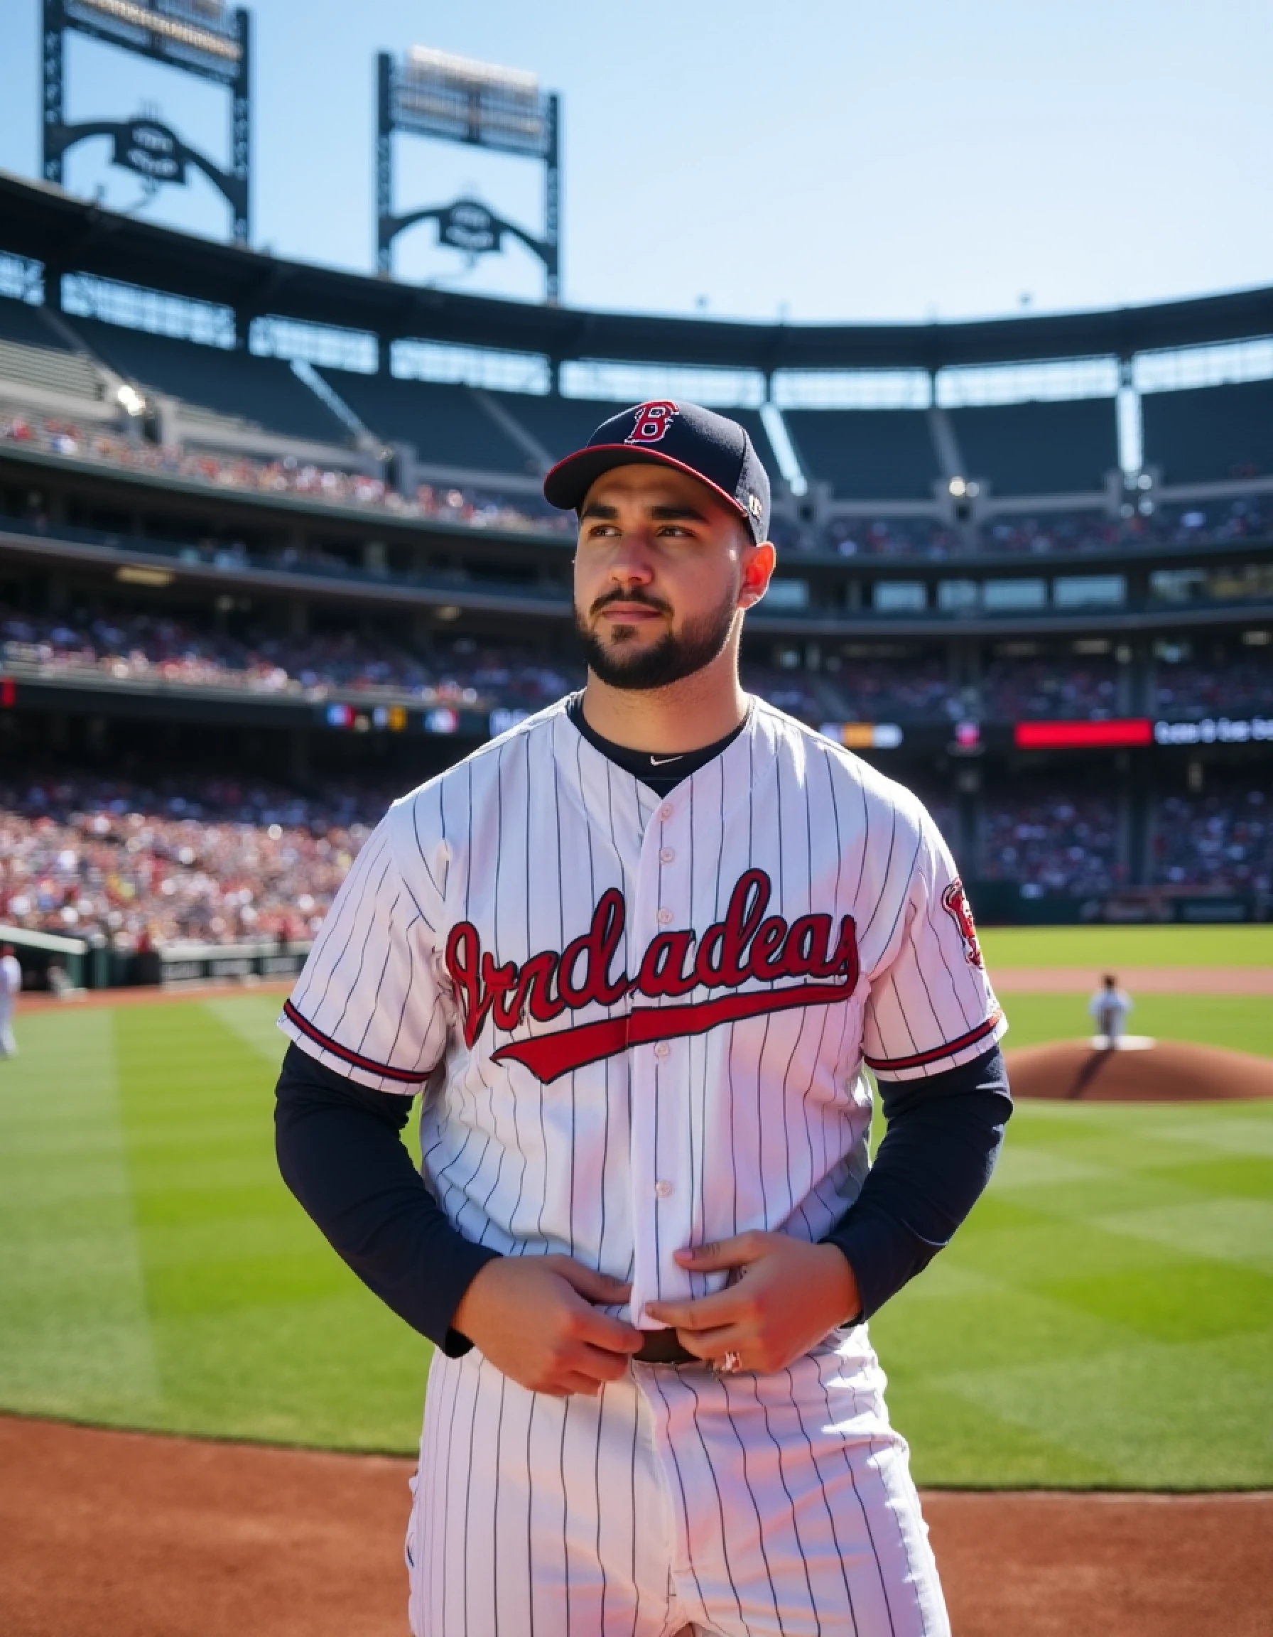
<svg viewBox="0 0 1273 1637"><path fill-rule="evenodd" d="M0 1472L7 1637L404 1637L409 1460L0 1418ZM1268 1632L1273 1495L924 1511L956 1637Z"/></svg>

